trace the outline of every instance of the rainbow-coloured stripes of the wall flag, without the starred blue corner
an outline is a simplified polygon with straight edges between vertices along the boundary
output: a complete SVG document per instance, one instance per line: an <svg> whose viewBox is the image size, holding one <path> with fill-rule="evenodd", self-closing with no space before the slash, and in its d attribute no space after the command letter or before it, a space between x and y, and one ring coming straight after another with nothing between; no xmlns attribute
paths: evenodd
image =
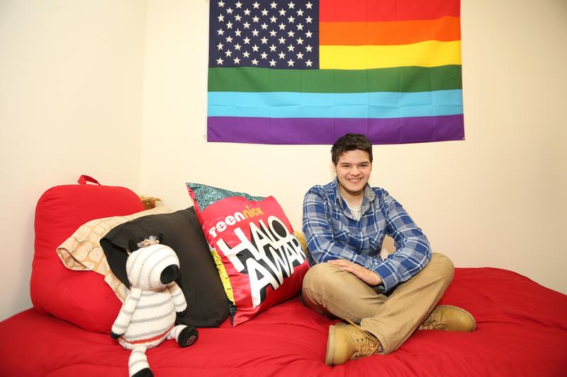
<svg viewBox="0 0 567 377"><path fill-rule="evenodd" d="M464 139L459 0L318 6L318 69L210 66L208 141L330 144L346 132L374 144Z"/></svg>

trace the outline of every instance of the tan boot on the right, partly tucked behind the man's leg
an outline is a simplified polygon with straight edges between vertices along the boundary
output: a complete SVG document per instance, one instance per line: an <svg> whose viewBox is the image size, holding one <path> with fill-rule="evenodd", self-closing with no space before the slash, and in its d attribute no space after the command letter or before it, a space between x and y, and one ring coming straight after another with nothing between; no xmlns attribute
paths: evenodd
<svg viewBox="0 0 567 377"><path fill-rule="evenodd" d="M473 315L456 306L436 306L417 330L474 331Z"/></svg>

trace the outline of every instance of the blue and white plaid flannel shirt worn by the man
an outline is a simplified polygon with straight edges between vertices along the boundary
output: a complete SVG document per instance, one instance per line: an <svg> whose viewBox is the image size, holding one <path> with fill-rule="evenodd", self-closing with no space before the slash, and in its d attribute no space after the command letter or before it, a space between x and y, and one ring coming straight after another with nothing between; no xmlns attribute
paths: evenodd
<svg viewBox="0 0 567 377"><path fill-rule="evenodd" d="M339 194L337 180L317 185L303 200L303 233L310 265L343 259L376 272L381 292L388 292L420 272L431 259L430 243L400 203L380 187L366 185L357 221ZM380 257L384 237L395 253Z"/></svg>

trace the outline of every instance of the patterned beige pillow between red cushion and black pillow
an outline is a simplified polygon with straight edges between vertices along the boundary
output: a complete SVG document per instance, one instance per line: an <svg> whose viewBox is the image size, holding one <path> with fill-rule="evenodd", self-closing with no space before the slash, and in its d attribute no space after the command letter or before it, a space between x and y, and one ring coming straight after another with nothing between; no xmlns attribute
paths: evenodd
<svg viewBox="0 0 567 377"><path fill-rule="evenodd" d="M128 288L118 280L106 261L101 248L101 238L117 225L138 217L152 214L169 214L172 210L164 205L137 212L128 216L113 216L91 220L80 226L75 233L57 248L57 255L65 267L77 271L94 271L104 276L104 281L111 286L120 301L124 302Z"/></svg>

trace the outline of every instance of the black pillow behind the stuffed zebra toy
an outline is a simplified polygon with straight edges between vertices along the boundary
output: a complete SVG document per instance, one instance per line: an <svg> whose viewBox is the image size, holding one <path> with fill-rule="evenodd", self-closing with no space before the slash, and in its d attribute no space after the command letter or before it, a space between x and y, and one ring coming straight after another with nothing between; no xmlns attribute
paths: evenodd
<svg viewBox="0 0 567 377"><path fill-rule="evenodd" d="M139 242L159 233L164 235L164 244L179 257L181 275L177 284L185 295L187 311L177 316L178 322L193 327L218 327L228 318L230 301L193 207L172 214L143 216L112 228L101 239L112 272L125 286L130 286L125 252L128 240Z"/></svg>

